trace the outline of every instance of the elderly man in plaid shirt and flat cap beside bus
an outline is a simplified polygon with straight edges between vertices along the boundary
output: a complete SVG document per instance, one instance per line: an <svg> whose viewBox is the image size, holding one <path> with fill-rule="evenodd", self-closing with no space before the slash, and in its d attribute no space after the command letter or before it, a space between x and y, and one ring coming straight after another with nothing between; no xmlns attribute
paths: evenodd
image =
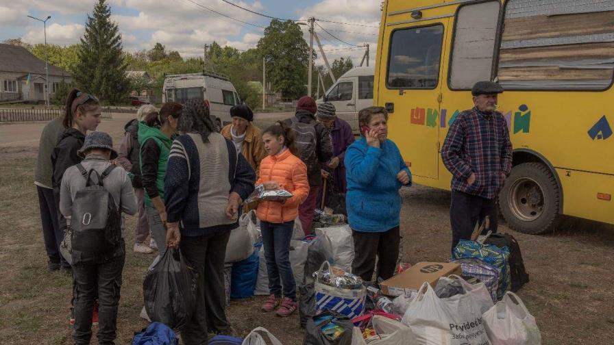
<svg viewBox="0 0 614 345"><path fill-rule="evenodd" d="M458 114L447 132L441 159L452 172L452 250L468 240L486 216L497 231L496 198L512 168L512 143L505 118L497 112L499 84L478 81L471 88L475 106Z"/></svg>

